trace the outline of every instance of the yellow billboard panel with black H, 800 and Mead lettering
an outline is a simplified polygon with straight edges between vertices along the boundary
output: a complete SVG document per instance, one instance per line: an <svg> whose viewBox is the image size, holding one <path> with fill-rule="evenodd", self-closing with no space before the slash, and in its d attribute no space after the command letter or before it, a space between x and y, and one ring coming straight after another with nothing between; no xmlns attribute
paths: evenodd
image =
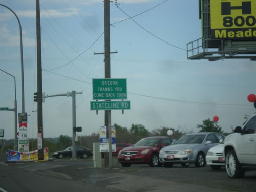
<svg viewBox="0 0 256 192"><path fill-rule="evenodd" d="M211 37L255 40L256 0L211 0Z"/></svg>

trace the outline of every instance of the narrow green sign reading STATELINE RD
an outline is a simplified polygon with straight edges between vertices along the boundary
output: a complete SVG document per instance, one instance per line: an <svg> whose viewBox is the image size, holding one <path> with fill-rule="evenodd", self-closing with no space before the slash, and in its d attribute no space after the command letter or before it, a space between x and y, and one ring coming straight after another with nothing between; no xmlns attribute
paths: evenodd
<svg viewBox="0 0 256 192"><path fill-rule="evenodd" d="M91 110L130 110L130 101L91 101Z"/></svg>

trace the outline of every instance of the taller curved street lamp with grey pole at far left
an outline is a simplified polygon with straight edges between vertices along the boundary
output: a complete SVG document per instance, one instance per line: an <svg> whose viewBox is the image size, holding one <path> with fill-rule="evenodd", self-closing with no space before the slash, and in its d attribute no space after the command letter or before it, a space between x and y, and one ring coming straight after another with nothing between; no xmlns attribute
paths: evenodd
<svg viewBox="0 0 256 192"><path fill-rule="evenodd" d="M22 66L22 113L25 112L25 107L24 107L24 71L23 71L23 46L22 46L22 25L20 25L20 21L18 19L18 16L16 15L16 13L10 9L9 7L7 7L6 5L0 4L0 6L6 7L7 9L9 9L17 18L18 20L18 25L19 25L19 38L20 38L20 63ZM10 75L10 74L9 74Z"/></svg>

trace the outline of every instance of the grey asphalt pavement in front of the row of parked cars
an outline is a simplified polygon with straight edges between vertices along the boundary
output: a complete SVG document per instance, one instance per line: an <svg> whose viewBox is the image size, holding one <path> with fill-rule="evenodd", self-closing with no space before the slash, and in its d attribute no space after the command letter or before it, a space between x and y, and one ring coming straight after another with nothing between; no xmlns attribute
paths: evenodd
<svg viewBox="0 0 256 192"><path fill-rule="evenodd" d="M123 168L116 162L113 162L113 168L93 168L91 159L54 159L54 161L19 163L9 166L40 176L82 183L90 187L95 186L95 190L100 187L105 191L134 192L170 190L177 192L256 191L255 171L247 172L242 179L230 179L224 168L220 171L213 171L210 167L196 168L190 166L183 168L180 165L175 165L172 168L152 168L148 165L132 165L129 168Z"/></svg>

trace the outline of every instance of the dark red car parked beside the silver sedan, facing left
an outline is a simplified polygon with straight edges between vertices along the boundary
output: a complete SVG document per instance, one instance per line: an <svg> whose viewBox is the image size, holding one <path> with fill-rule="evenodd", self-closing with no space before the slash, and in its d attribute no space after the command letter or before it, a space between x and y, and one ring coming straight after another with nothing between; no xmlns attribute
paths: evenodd
<svg viewBox="0 0 256 192"><path fill-rule="evenodd" d="M173 143L169 137L156 136L146 137L135 145L121 150L117 156L118 163L123 167L130 167L131 164L148 164L151 167L160 166L158 154L161 148Z"/></svg>

